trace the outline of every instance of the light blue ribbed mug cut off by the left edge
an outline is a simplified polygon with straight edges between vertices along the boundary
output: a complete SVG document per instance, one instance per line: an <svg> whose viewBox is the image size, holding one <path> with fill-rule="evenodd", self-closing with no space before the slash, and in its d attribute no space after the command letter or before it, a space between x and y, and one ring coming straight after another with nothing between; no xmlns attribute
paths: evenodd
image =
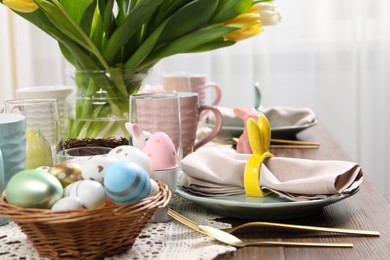
<svg viewBox="0 0 390 260"><path fill-rule="evenodd" d="M26 161L26 117L0 114L0 191L11 177L24 170ZM0 226L8 223L0 219Z"/></svg>

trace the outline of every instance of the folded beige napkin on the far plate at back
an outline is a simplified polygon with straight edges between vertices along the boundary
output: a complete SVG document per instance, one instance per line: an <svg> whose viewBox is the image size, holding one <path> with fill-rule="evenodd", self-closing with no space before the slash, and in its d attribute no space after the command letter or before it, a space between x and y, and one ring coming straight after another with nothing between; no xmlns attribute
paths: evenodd
<svg viewBox="0 0 390 260"><path fill-rule="evenodd" d="M224 126L244 126L243 119L234 113L233 108L222 106L218 106L217 108L222 114ZM263 113L267 117L271 128L280 126L304 125L311 123L316 119L315 113L311 109L305 107L295 108L275 106L264 109ZM208 115L205 120L205 122L208 124L214 124L214 117L212 115Z"/></svg>

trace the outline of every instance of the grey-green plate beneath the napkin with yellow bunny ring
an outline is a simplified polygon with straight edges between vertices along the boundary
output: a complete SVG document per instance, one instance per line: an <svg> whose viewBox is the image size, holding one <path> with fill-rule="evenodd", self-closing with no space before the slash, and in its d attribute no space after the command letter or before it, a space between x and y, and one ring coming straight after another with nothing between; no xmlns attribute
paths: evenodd
<svg viewBox="0 0 390 260"><path fill-rule="evenodd" d="M314 214L325 206L354 195L358 190L355 189L351 193L326 199L298 202L292 202L277 195L270 195L265 198L246 195L204 197L186 192L180 186L176 189L176 193L222 216L252 220L277 220Z"/></svg>

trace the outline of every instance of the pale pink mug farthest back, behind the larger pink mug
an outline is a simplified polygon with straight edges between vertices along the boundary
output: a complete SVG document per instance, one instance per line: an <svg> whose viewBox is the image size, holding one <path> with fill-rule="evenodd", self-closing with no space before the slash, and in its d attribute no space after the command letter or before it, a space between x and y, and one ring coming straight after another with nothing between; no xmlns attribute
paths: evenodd
<svg viewBox="0 0 390 260"><path fill-rule="evenodd" d="M221 87L207 80L205 75L166 74L163 76L163 88L167 92L195 92L199 95L199 104L206 105L208 95L213 92L212 106L221 101Z"/></svg>

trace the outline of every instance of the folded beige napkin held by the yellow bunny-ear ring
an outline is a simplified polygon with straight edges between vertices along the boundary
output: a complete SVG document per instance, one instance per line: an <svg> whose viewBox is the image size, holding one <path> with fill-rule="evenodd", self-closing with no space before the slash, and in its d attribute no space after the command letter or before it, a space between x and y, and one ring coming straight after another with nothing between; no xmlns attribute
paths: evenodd
<svg viewBox="0 0 390 260"><path fill-rule="evenodd" d="M243 175L250 154L226 147L205 147L181 162L182 188L204 196L245 194ZM354 162L274 157L260 170L263 190L292 201L323 199L356 189L363 171Z"/></svg>

